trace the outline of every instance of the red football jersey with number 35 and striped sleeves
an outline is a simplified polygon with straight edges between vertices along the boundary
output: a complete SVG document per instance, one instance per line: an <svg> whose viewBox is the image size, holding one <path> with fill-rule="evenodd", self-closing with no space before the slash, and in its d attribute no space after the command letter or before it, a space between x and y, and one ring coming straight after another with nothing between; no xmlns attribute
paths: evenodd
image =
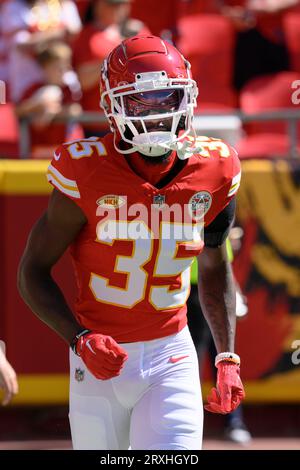
<svg viewBox="0 0 300 470"><path fill-rule="evenodd" d="M234 149L199 137L202 150L162 189L138 176L113 135L59 147L47 177L87 218L71 246L76 317L117 342L147 341L187 323L190 266L210 224L236 193ZM139 158L137 156L137 158Z"/></svg>

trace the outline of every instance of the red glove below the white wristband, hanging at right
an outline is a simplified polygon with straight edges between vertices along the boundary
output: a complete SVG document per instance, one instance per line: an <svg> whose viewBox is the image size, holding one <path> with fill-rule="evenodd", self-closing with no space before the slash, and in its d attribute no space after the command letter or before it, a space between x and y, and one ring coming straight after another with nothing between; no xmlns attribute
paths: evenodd
<svg viewBox="0 0 300 470"><path fill-rule="evenodd" d="M217 388L213 388L204 407L212 413L231 413L245 398L240 378L240 366L233 362L221 361L217 364Z"/></svg>

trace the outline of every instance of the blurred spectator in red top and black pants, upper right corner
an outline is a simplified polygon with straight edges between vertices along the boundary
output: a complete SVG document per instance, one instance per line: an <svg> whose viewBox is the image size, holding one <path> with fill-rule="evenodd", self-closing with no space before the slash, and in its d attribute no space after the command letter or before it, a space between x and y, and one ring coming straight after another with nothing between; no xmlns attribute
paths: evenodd
<svg viewBox="0 0 300 470"><path fill-rule="evenodd" d="M289 70L283 17L299 9L299 0L225 0L220 12L236 29L234 85Z"/></svg>

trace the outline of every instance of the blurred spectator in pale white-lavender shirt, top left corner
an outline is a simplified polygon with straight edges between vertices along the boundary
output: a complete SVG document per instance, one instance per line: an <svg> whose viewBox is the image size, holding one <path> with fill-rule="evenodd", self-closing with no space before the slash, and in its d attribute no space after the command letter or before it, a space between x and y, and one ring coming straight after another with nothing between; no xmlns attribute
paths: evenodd
<svg viewBox="0 0 300 470"><path fill-rule="evenodd" d="M1 16L11 98L19 101L24 90L43 79L34 58L36 48L70 39L80 31L81 21L71 0L9 0Z"/></svg>

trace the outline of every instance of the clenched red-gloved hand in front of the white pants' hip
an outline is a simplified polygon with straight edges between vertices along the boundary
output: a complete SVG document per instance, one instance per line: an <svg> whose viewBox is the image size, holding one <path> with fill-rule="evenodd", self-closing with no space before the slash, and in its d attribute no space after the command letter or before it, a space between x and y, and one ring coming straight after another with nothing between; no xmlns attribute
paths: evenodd
<svg viewBox="0 0 300 470"><path fill-rule="evenodd" d="M113 338L93 332L78 339L76 354L96 379L101 380L120 375L128 359L127 352Z"/></svg>

